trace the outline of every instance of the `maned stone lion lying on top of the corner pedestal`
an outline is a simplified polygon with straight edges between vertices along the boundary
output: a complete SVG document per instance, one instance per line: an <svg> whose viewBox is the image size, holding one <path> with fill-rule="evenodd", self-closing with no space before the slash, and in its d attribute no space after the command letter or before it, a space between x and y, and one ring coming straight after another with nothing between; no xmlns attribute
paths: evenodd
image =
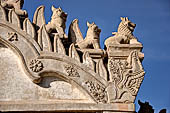
<svg viewBox="0 0 170 113"><path fill-rule="evenodd" d="M118 27L118 32L113 32L114 36L109 37L105 41L105 45L107 47L108 44L136 44L136 37L133 36L133 31L136 27L136 24L131 22L127 17L121 17L121 22Z"/></svg>

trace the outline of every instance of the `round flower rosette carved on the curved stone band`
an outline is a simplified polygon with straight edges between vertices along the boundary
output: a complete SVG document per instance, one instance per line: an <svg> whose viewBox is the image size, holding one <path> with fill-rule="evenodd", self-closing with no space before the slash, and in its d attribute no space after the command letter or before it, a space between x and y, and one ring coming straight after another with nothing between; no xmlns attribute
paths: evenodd
<svg viewBox="0 0 170 113"><path fill-rule="evenodd" d="M37 59L32 60L29 66L33 72L40 72L44 68L43 63Z"/></svg>

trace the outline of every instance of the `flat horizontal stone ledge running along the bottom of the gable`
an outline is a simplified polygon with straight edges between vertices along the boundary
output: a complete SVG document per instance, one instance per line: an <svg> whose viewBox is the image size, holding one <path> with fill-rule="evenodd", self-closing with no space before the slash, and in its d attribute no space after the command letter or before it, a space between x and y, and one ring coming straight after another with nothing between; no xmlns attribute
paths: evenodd
<svg viewBox="0 0 170 113"><path fill-rule="evenodd" d="M93 103L57 103L53 101L13 101L0 102L0 111L114 111L133 112L132 104L93 104Z"/></svg>

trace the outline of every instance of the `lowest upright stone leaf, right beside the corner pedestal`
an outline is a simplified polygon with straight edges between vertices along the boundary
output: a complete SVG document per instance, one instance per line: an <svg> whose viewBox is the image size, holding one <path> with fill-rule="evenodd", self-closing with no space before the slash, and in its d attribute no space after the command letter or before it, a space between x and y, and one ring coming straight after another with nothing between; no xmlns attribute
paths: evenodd
<svg viewBox="0 0 170 113"><path fill-rule="evenodd" d="M100 59L96 64L96 72L107 81L107 71L102 59Z"/></svg>

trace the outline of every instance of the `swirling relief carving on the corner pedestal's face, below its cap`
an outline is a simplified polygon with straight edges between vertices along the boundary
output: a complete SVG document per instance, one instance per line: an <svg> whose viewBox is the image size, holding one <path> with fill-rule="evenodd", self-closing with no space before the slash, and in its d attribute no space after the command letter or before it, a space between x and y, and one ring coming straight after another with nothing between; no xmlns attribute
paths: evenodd
<svg viewBox="0 0 170 113"><path fill-rule="evenodd" d="M116 97L121 102L134 100L124 100L124 94L136 96L144 78L144 70L137 51L132 51L127 60L109 60L110 80L116 88ZM122 99L122 100L121 100Z"/></svg>

